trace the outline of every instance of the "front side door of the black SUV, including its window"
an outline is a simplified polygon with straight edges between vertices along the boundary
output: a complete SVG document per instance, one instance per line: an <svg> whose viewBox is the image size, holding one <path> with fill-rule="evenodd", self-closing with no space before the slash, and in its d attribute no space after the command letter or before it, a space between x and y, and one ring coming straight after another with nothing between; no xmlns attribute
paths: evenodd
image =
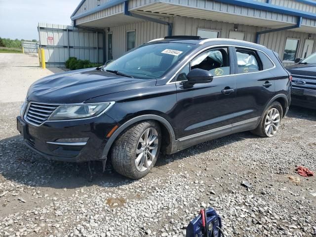
<svg viewBox="0 0 316 237"><path fill-rule="evenodd" d="M177 81L186 79L186 74L195 68L210 71L214 78L209 83L194 84L185 88L176 82L177 108L175 115L179 138L198 136L201 132L230 129L234 118L236 80L229 76L231 53L229 47L212 48L199 54L179 73Z"/></svg>

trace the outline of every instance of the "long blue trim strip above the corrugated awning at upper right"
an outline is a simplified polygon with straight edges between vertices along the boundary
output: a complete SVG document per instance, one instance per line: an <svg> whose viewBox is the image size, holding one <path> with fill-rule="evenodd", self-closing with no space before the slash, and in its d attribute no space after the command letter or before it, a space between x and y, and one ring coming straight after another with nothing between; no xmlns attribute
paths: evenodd
<svg viewBox="0 0 316 237"><path fill-rule="evenodd" d="M255 8L258 10L272 11L272 12L287 14L291 16L301 16L304 18L316 20L315 13L300 11L300 10L278 6L278 5L274 5L274 4L270 4L266 2L260 2L260 1L254 1L254 0L216 0L216 1L224 2L224 3L232 4L232 5Z"/></svg>

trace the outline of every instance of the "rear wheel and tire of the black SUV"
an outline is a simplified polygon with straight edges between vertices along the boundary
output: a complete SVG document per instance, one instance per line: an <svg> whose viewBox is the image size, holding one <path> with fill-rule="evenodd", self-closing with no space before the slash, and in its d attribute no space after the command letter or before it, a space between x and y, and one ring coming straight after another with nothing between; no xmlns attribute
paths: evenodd
<svg viewBox="0 0 316 237"><path fill-rule="evenodd" d="M272 114L271 114L272 113ZM278 115L277 115L278 113ZM272 121L269 120L269 115L273 115L272 117L275 118ZM263 113L262 118L260 119L259 125L251 131L251 133L261 136L261 137L273 137L276 135L276 132L278 131L281 120L283 115L283 109L279 102L275 101L273 102L268 109ZM269 117L269 118L268 118ZM266 124L268 123L268 124ZM271 127L271 130L266 130L266 128L269 128L269 124ZM271 132L269 132L271 131Z"/></svg>

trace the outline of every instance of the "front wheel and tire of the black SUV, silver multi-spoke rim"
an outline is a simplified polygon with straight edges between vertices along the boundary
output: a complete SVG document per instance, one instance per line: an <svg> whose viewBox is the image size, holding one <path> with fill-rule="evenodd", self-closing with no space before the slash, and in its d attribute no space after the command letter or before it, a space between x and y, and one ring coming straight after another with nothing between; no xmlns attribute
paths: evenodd
<svg viewBox="0 0 316 237"><path fill-rule="evenodd" d="M150 139L146 140L146 136L150 138L151 134L152 140L147 142ZM150 142L153 143L149 145ZM154 167L160 146L161 130L157 122L148 120L134 124L114 142L111 155L113 168L128 178L141 179Z"/></svg>

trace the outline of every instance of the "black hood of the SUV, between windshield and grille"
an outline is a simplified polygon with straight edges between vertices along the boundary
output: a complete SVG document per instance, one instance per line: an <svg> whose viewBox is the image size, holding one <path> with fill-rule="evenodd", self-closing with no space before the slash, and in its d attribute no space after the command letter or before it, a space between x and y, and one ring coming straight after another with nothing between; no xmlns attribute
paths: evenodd
<svg viewBox="0 0 316 237"><path fill-rule="evenodd" d="M93 69L51 75L34 82L28 101L44 103L82 103L90 98L144 87L147 80L117 76Z"/></svg>

